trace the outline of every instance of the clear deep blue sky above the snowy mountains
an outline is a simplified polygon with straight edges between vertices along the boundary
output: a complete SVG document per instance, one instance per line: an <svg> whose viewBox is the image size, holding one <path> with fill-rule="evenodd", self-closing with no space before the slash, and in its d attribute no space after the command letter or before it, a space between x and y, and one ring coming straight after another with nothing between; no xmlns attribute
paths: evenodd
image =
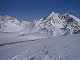
<svg viewBox="0 0 80 60"><path fill-rule="evenodd" d="M80 13L80 0L0 0L0 14L41 17L51 11Z"/></svg>

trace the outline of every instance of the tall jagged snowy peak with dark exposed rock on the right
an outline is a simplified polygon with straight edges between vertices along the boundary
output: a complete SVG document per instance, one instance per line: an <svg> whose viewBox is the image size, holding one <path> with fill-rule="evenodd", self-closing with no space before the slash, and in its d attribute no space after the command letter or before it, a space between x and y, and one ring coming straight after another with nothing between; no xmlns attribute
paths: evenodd
<svg viewBox="0 0 80 60"><path fill-rule="evenodd" d="M36 23L38 30L46 30L54 36L73 34L80 31L80 19L70 14L59 14L52 12Z"/></svg>

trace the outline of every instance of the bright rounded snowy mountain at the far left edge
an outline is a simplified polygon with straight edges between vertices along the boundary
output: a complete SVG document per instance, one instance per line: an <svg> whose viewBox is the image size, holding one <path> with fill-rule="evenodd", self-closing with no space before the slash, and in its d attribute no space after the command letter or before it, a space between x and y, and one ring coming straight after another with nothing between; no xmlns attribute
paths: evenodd
<svg viewBox="0 0 80 60"><path fill-rule="evenodd" d="M1 32L16 32L20 31L20 22L11 16L0 16L0 31Z"/></svg>

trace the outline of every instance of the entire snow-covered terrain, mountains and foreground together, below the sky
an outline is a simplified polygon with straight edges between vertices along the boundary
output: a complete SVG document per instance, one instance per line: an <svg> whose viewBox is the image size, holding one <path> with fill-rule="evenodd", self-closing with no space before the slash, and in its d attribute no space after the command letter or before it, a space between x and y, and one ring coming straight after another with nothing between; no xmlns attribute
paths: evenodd
<svg viewBox="0 0 80 60"><path fill-rule="evenodd" d="M52 12L29 22L0 16L0 60L80 60L80 19Z"/></svg>

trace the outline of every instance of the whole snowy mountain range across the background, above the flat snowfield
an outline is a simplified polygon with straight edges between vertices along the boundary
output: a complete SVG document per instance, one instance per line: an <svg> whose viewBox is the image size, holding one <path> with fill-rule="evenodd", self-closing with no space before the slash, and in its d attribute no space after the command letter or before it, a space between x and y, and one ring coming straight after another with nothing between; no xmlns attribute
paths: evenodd
<svg viewBox="0 0 80 60"><path fill-rule="evenodd" d="M53 36L80 32L80 19L72 14L52 12L35 22L22 21L12 16L0 16L1 32L46 32ZM27 34L26 33L26 34Z"/></svg>

